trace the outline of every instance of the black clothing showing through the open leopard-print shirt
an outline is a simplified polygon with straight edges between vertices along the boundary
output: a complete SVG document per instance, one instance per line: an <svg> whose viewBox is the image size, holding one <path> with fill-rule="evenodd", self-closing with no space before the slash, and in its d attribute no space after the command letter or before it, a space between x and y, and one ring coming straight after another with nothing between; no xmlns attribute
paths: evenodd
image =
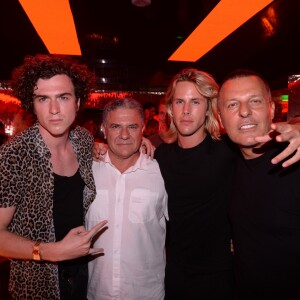
<svg viewBox="0 0 300 300"><path fill-rule="evenodd" d="M79 170L74 176L54 174L53 220L56 240L83 225L83 189ZM87 297L87 258L58 263L61 300L85 300Z"/></svg>

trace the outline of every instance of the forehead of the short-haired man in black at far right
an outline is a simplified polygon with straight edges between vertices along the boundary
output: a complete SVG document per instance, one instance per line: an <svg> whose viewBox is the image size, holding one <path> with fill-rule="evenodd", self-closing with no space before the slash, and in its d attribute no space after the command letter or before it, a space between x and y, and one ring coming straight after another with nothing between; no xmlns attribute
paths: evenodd
<svg viewBox="0 0 300 300"><path fill-rule="evenodd" d="M237 97L267 96L264 82L256 76L239 77L227 80L220 90L220 99L235 99Z"/></svg>

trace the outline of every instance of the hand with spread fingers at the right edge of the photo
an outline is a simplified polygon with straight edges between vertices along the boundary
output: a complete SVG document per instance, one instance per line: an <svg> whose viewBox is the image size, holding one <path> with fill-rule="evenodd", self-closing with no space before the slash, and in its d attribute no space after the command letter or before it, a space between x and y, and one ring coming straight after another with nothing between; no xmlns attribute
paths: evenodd
<svg viewBox="0 0 300 300"><path fill-rule="evenodd" d="M271 160L273 164L281 162L293 153L290 159L282 163L282 167L286 168L300 160L300 124L273 123L269 133L255 138L259 143L266 143L272 139L277 142L289 142L289 145Z"/></svg>

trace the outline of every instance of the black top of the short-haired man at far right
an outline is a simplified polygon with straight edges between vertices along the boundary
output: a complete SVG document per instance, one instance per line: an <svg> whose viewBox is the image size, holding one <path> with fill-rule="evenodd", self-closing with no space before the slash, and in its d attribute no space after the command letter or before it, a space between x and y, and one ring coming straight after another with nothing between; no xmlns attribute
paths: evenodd
<svg viewBox="0 0 300 300"><path fill-rule="evenodd" d="M230 218L238 300L299 299L300 164L271 164L285 146L237 164Z"/></svg>

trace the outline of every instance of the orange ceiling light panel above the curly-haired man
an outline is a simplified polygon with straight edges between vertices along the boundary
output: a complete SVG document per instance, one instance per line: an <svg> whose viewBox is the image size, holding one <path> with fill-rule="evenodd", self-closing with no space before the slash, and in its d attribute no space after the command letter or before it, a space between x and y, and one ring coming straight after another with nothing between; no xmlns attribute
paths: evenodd
<svg viewBox="0 0 300 300"><path fill-rule="evenodd" d="M50 54L81 55L68 0L19 0Z"/></svg>

